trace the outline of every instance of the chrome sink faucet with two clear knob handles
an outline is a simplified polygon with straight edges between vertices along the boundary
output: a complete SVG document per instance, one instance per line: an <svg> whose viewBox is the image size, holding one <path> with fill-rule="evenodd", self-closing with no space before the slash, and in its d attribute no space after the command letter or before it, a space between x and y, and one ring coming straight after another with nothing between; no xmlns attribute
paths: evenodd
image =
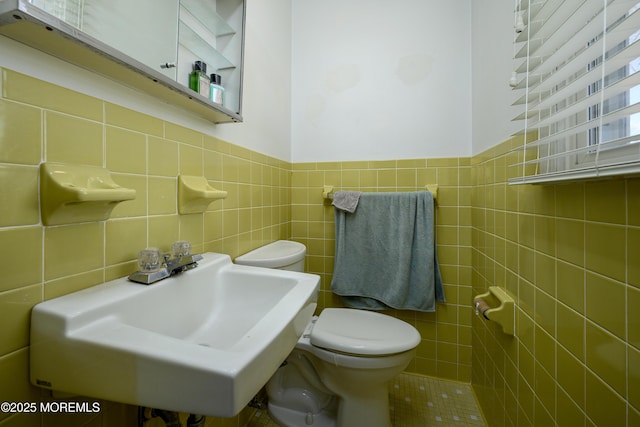
<svg viewBox="0 0 640 427"><path fill-rule="evenodd" d="M171 255L163 255L158 248L143 249L138 254L140 270L131 274L129 280L150 285L195 268L201 259L202 255L191 253L191 244L185 241L171 245Z"/></svg>

